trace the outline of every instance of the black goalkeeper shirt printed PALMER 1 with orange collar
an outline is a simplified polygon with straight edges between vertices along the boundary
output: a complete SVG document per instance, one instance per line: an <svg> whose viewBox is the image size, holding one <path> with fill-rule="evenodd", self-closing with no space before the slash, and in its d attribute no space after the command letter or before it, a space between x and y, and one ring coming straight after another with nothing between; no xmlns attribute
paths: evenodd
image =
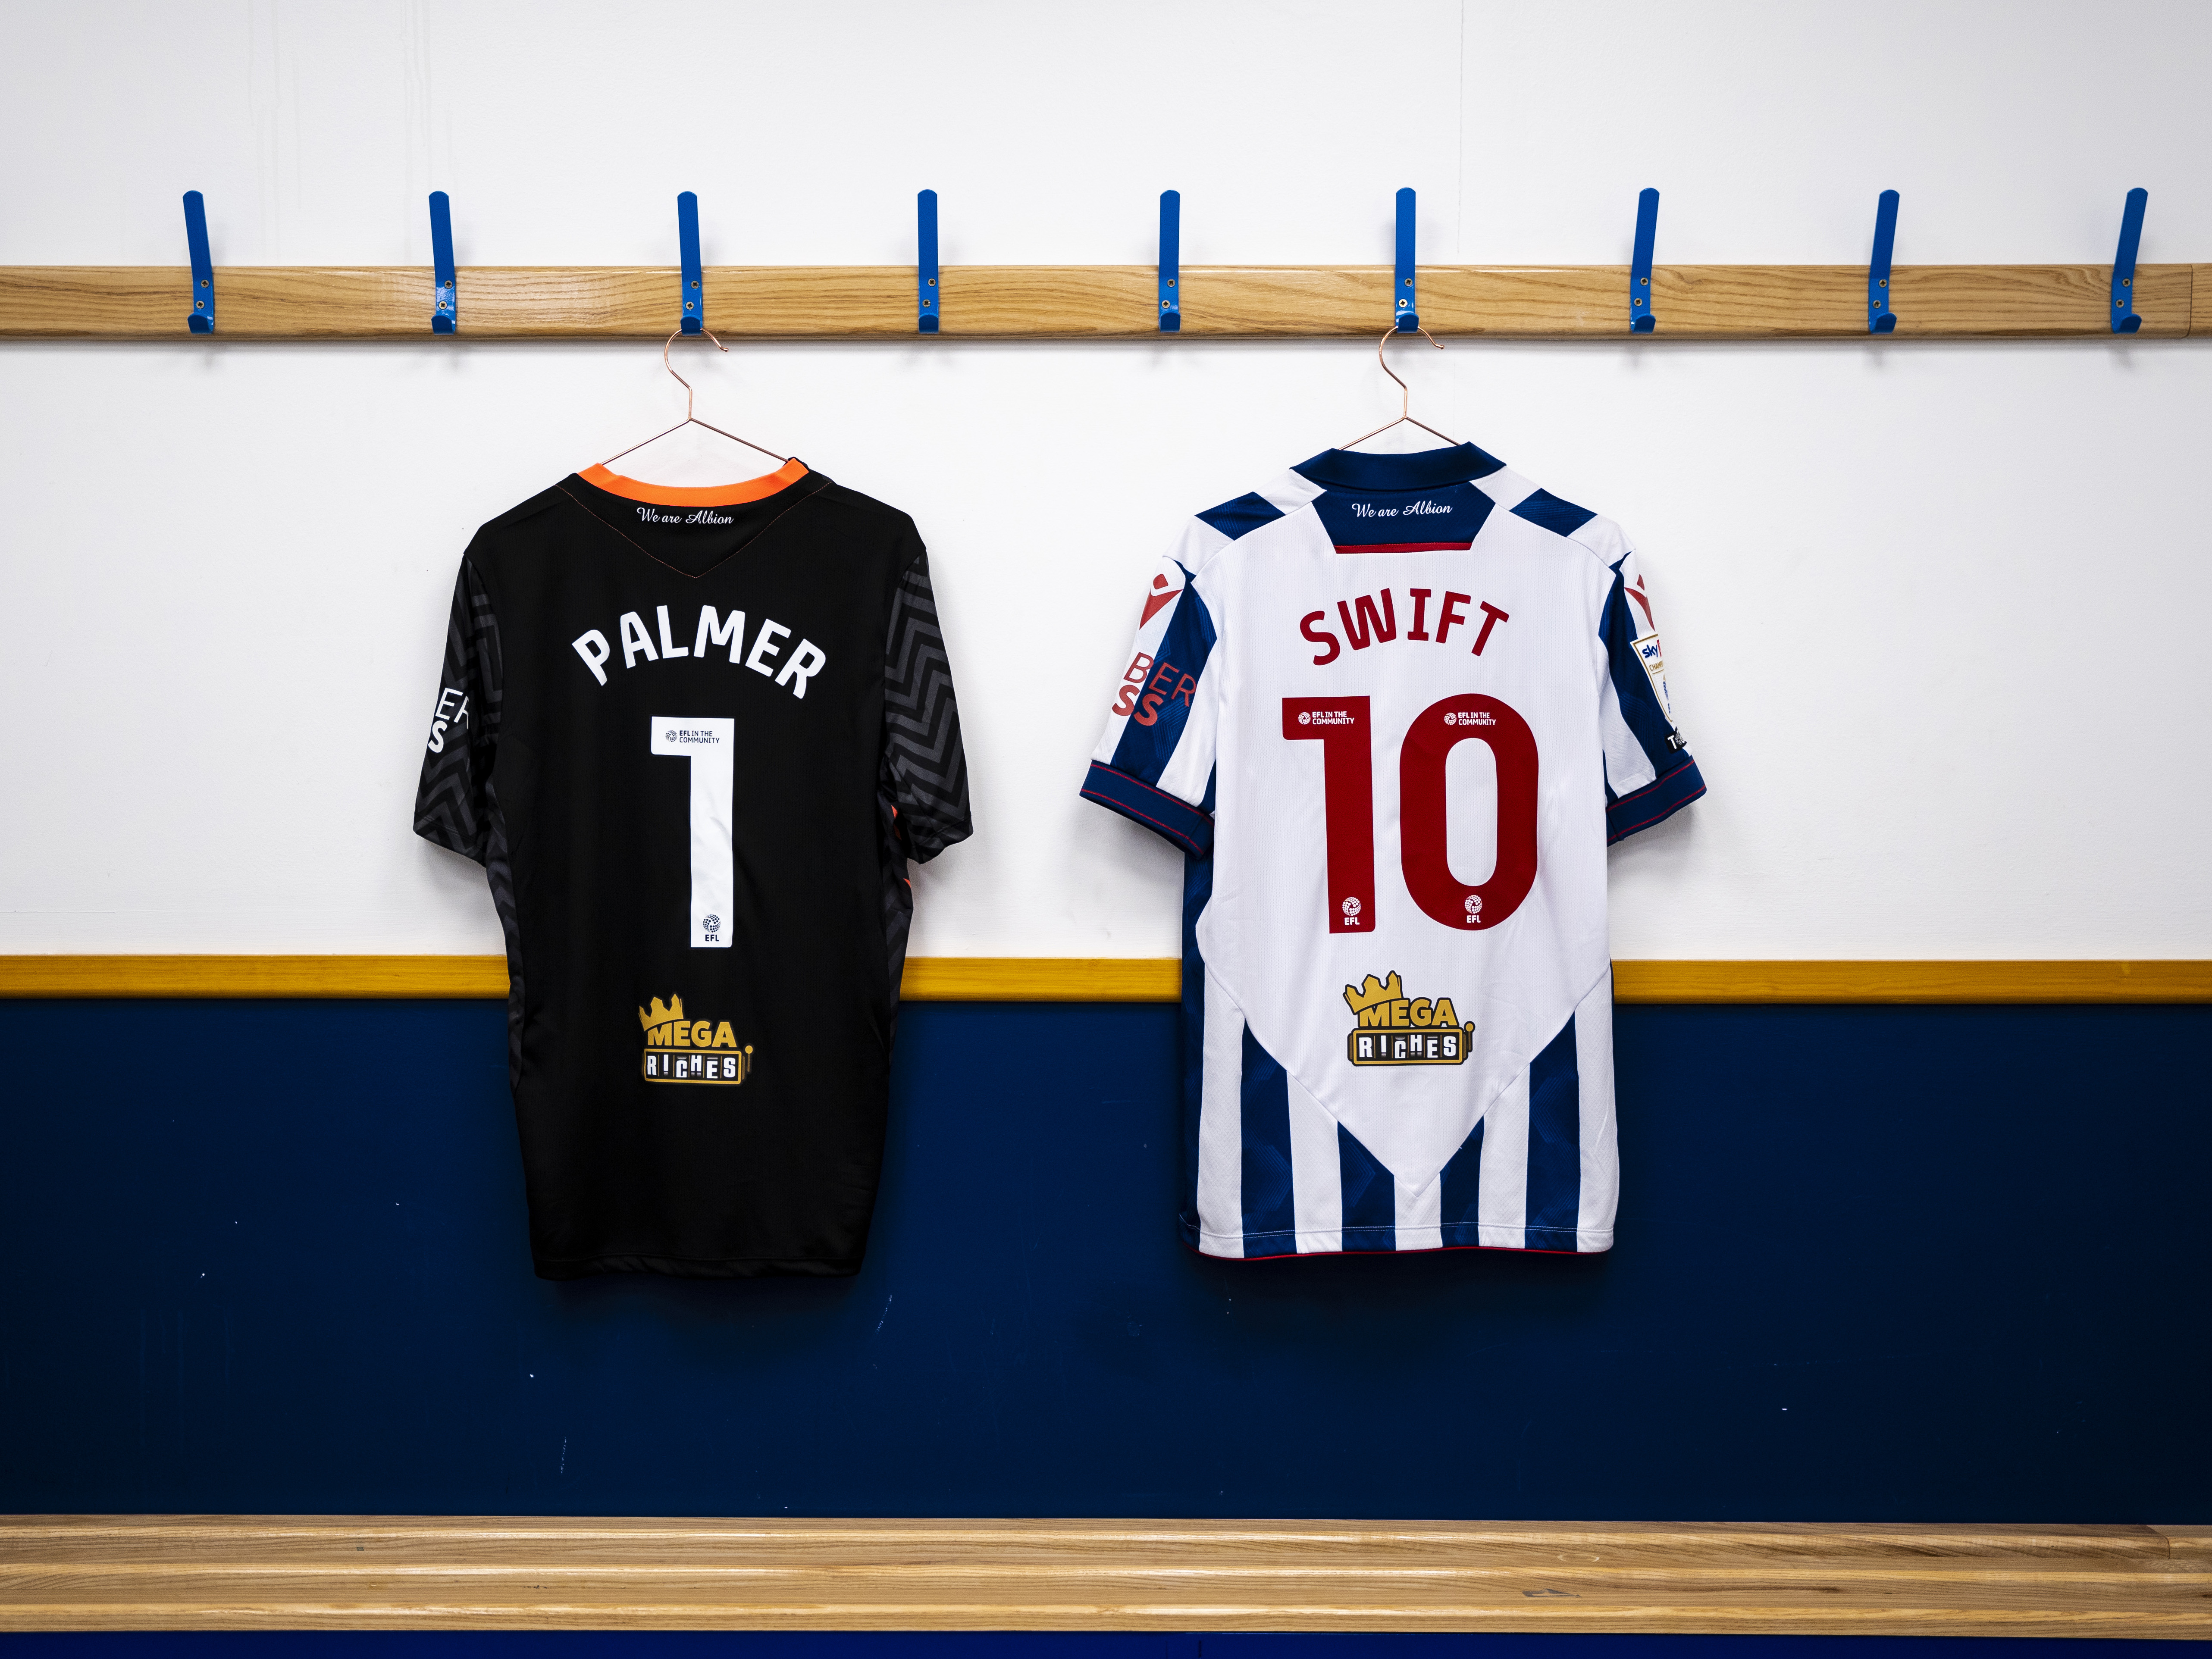
<svg viewBox="0 0 2212 1659"><path fill-rule="evenodd" d="M416 832L484 865L507 931L542 1276L858 1270L907 858L969 834L905 513L792 460L593 467L491 520Z"/></svg>

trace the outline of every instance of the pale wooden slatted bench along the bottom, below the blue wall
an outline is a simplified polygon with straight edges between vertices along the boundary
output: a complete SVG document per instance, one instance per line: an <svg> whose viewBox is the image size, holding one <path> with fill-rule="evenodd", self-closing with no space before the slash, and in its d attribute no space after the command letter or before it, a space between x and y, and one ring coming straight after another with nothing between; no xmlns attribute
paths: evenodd
<svg viewBox="0 0 2212 1659"><path fill-rule="evenodd" d="M2203 1526L0 1517L0 1630L2212 1637Z"/></svg>

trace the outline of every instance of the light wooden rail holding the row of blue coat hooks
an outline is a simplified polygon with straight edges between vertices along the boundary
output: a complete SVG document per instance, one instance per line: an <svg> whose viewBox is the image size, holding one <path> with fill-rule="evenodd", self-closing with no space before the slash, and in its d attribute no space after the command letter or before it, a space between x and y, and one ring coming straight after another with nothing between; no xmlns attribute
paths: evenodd
<svg viewBox="0 0 2212 1659"><path fill-rule="evenodd" d="M1891 338L2110 334L2108 265L1898 265ZM1422 265L1436 334L1639 338L1626 265ZM458 338L661 338L675 268L458 272ZM1378 336L1387 265L1183 265L1183 336ZM710 265L706 321L723 338L916 338L909 265ZM947 265L940 338L1159 334L1150 265ZM4 265L0 341L195 341L184 265ZM2139 265L2137 341L2212 332L2212 265ZM1865 265L1659 265L1652 341L1867 336ZM429 268L215 270L215 341L434 341Z"/></svg>

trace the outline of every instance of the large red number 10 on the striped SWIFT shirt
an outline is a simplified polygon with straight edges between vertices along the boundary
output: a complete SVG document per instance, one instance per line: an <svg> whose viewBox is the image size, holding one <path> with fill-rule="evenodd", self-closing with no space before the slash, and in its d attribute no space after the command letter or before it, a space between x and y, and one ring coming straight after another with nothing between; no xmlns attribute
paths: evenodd
<svg viewBox="0 0 2212 1659"><path fill-rule="evenodd" d="M1329 931L1376 927L1374 717L1365 697L1285 697L1283 737L1321 743L1327 823ZM1486 743L1498 763L1498 863L1469 887L1447 858L1444 763L1460 743ZM1535 885L1535 732L1495 697L1429 703L1398 745L1398 863L1422 914L1455 931L1498 927Z"/></svg>

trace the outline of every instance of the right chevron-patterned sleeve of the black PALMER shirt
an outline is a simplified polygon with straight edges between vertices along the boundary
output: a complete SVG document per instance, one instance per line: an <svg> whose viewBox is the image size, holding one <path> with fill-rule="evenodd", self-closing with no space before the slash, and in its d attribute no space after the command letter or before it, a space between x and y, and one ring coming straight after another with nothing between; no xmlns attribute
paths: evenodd
<svg viewBox="0 0 2212 1659"><path fill-rule="evenodd" d="M927 863L971 832L960 708L945 659L929 555L916 551L891 593L883 646L883 794L909 858Z"/></svg>

